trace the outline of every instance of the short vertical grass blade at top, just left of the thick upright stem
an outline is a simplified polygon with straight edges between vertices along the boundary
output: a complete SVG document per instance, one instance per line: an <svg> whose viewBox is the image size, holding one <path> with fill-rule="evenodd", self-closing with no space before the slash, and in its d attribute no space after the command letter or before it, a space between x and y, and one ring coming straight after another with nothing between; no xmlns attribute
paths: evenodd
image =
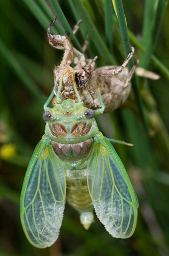
<svg viewBox="0 0 169 256"><path fill-rule="evenodd" d="M104 0L104 23L105 35L108 41L109 49L112 51L112 2Z"/></svg>

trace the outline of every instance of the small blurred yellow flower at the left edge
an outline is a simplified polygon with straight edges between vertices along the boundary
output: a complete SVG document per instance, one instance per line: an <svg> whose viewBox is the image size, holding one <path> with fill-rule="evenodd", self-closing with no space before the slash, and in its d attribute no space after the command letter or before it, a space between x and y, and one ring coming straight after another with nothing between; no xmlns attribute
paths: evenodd
<svg viewBox="0 0 169 256"><path fill-rule="evenodd" d="M11 159L16 155L16 151L15 144L4 144L0 147L0 157L5 160Z"/></svg>

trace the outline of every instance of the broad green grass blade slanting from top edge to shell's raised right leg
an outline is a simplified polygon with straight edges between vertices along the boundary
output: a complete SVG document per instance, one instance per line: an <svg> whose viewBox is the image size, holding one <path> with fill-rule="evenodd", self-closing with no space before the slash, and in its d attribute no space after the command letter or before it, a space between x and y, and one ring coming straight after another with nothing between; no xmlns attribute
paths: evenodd
<svg viewBox="0 0 169 256"><path fill-rule="evenodd" d="M85 24L85 26L90 34L90 37L92 38L100 55L103 57L103 59L106 61L107 64L115 65L116 64L115 58L109 52L105 42L102 40L98 30L96 29L89 13L87 12L83 3L79 0L73 0L73 3L75 5L75 7L77 8L77 11L80 14L80 17L82 18L83 23Z"/></svg>

